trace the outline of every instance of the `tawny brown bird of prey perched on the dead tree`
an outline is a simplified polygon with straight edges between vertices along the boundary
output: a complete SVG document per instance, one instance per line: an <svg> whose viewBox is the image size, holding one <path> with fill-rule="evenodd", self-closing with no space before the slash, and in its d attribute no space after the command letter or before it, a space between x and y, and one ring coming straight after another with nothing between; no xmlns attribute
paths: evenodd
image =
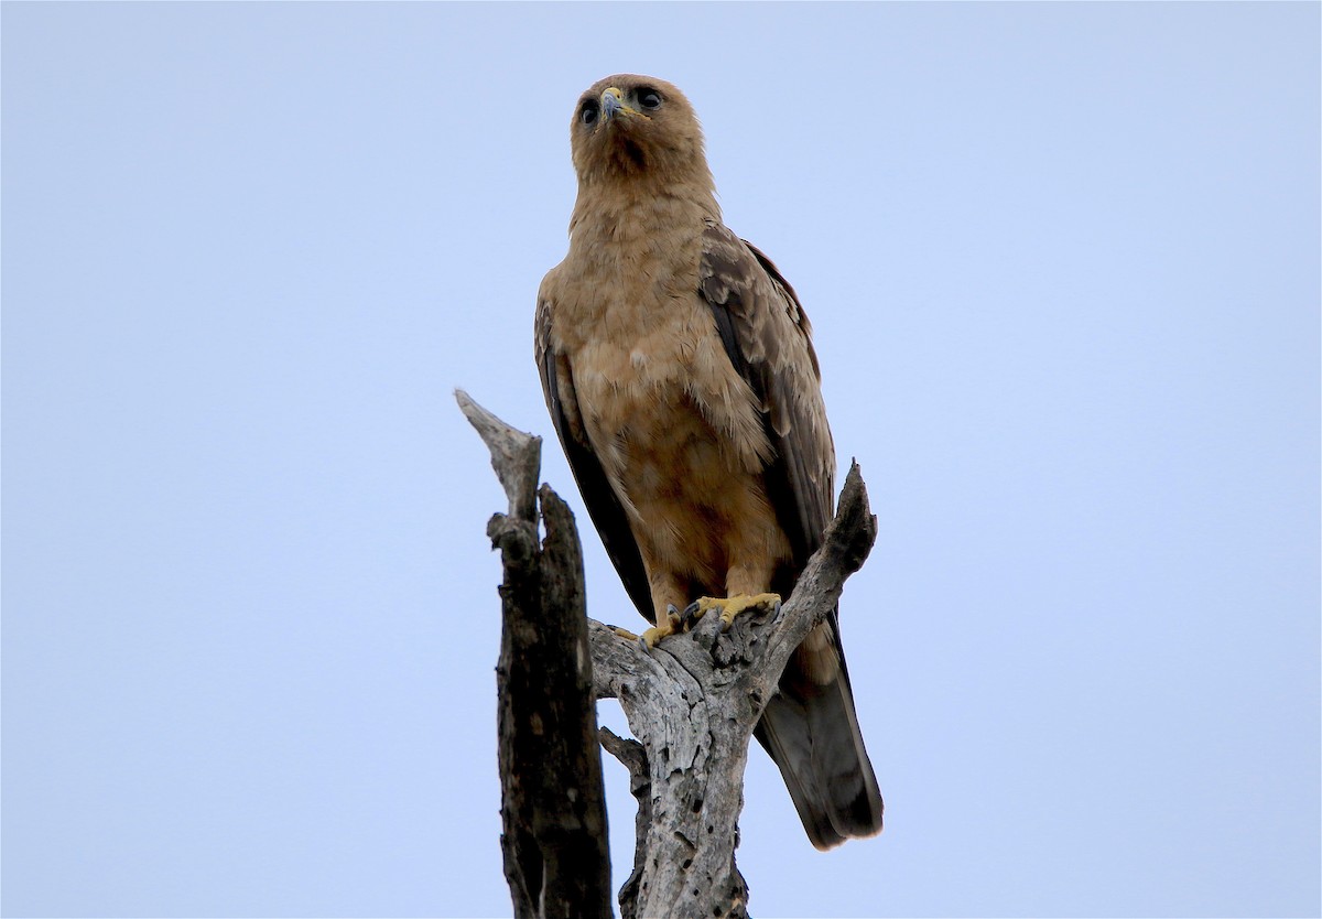
<svg viewBox="0 0 1322 919"><path fill-rule="evenodd" d="M591 86L570 126L570 249L537 296L546 405L624 587L656 627L788 596L832 517L836 454L808 316L720 222L702 130L660 79ZM756 737L813 845L882 829L837 611Z"/></svg>

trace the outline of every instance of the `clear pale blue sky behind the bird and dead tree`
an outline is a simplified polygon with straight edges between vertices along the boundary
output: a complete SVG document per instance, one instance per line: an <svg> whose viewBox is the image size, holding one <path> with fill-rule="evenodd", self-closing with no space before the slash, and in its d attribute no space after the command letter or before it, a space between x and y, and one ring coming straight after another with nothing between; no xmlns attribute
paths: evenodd
<svg viewBox="0 0 1322 919"><path fill-rule="evenodd" d="M0 13L5 915L508 914L451 390L551 435L534 294L617 71L697 107L880 520L887 829L814 852L755 751L752 911L1322 910L1322 7Z"/></svg>

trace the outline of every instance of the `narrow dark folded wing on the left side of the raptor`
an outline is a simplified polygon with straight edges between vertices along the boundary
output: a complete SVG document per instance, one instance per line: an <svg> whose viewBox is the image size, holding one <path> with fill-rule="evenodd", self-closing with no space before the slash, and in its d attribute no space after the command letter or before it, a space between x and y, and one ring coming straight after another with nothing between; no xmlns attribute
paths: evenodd
<svg viewBox="0 0 1322 919"><path fill-rule="evenodd" d="M648 587L648 574L639 553L639 543L629 529L624 506L615 496L605 471L596 459L596 452L583 432L578 399L574 393L574 374L568 361L551 344L550 316L554 307L549 300L538 300L535 323L537 369L542 377L542 393L546 407L551 413L551 423L564 448L570 471L583 495L587 513L602 537L605 554L624 582L624 590L633 606L648 620L652 615L652 591Z"/></svg>

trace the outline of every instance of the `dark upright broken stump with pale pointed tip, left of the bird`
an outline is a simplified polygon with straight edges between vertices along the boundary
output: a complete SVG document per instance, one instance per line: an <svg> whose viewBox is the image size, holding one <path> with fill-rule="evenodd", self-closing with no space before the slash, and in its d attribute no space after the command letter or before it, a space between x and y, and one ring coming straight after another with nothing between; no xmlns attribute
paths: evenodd
<svg viewBox="0 0 1322 919"><path fill-rule="evenodd" d="M497 758L514 915L609 919L602 755L574 516L549 487L533 491L541 438L509 427L461 391L455 395L490 450L510 509L493 516L486 532L504 566Z"/></svg>

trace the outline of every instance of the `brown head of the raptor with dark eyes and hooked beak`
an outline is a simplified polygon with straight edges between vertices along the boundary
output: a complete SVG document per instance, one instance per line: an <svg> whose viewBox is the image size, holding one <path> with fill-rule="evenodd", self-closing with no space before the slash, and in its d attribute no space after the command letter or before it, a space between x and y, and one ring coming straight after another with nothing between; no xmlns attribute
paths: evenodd
<svg viewBox="0 0 1322 919"><path fill-rule="evenodd" d="M570 124L579 181L706 177L702 126L683 94L664 79L617 74L599 79L574 106Z"/></svg>

